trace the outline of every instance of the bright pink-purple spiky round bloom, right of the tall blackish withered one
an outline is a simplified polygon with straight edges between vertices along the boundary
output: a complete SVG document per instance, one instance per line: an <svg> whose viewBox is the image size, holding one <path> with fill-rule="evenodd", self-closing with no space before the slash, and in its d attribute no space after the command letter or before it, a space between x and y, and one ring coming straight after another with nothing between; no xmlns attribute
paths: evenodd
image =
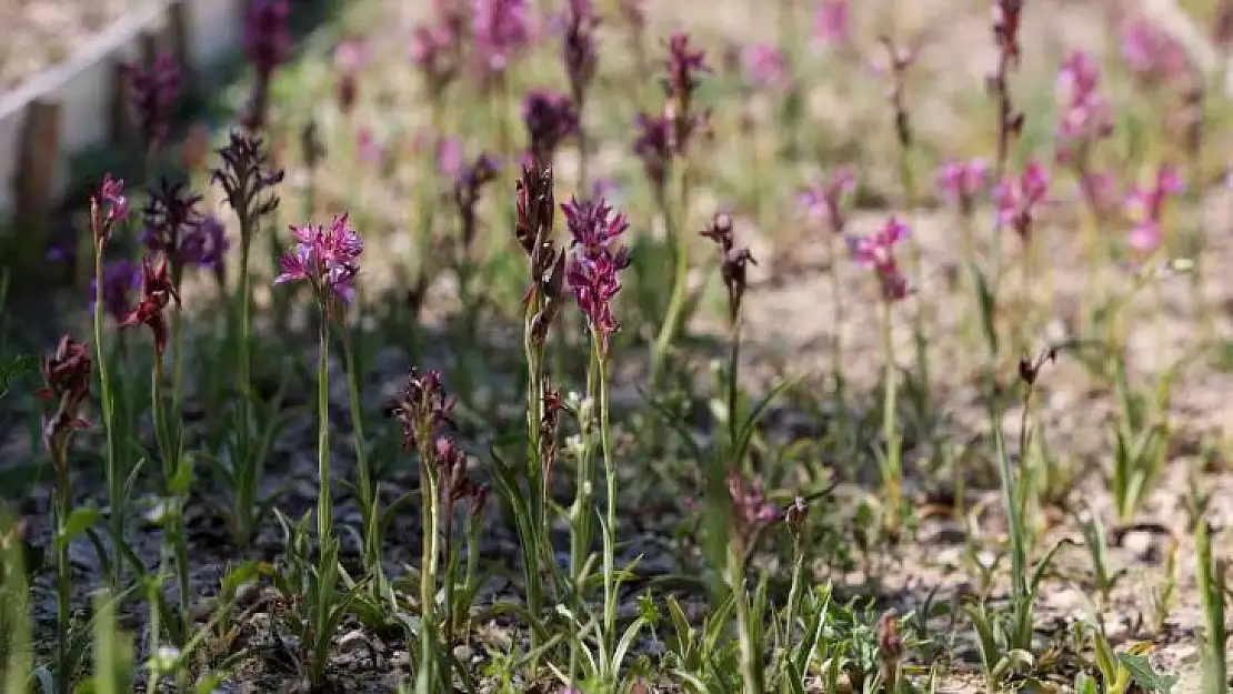
<svg viewBox="0 0 1233 694"><path fill-rule="evenodd" d="M321 224L291 226L296 245L280 259L282 272L275 285L307 281L324 301L329 293L350 303L355 295L353 281L359 272L358 260L364 253L364 239L351 228L344 213L334 217L327 228Z"/></svg>

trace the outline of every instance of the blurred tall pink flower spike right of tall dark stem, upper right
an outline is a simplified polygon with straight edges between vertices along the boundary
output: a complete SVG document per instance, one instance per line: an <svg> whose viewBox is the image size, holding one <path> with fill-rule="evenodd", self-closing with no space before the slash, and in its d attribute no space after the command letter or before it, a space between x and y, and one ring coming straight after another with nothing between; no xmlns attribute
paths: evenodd
<svg viewBox="0 0 1233 694"><path fill-rule="evenodd" d="M1112 105L1100 91L1100 68L1086 51L1073 51L1058 71L1062 117L1057 160L1083 165L1088 148L1113 133Z"/></svg>

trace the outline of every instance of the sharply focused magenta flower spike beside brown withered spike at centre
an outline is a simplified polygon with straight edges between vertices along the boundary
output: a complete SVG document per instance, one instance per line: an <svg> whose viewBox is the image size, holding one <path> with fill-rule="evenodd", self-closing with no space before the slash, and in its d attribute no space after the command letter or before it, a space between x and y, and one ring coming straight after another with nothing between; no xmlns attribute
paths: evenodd
<svg viewBox="0 0 1233 694"><path fill-rule="evenodd" d="M620 329L612 301L620 291L620 271L629 266L629 250L620 239L629 229L629 219L602 198L575 198L561 205L561 211L573 249L566 280L600 353L607 355L612 335Z"/></svg>

